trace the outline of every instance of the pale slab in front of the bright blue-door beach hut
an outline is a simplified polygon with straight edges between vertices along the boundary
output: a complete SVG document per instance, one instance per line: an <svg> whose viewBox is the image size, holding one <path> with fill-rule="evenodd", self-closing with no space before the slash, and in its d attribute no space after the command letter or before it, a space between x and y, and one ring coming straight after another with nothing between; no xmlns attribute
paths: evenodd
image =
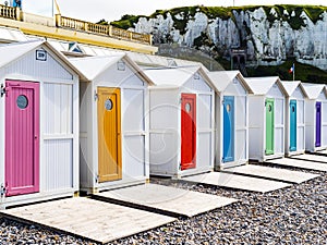
<svg viewBox="0 0 327 245"><path fill-rule="evenodd" d="M276 169L265 166L246 164L223 170L223 172L238 173L250 176L265 177L269 180L284 181L300 184L311 179L319 176L319 174L304 173L300 171Z"/></svg>

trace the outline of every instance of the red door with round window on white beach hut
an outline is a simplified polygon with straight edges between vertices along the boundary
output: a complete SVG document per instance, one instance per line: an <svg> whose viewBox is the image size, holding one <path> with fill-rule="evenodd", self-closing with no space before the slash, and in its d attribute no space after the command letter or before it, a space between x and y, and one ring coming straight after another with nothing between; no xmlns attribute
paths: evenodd
<svg viewBox="0 0 327 245"><path fill-rule="evenodd" d="M196 167L196 95L182 94L181 169Z"/></svg>

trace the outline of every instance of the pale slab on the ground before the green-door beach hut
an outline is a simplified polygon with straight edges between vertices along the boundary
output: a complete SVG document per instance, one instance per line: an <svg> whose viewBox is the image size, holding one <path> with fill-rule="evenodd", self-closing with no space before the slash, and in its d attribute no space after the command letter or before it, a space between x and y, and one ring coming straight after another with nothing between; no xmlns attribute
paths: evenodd
<svg viewBox="0 0 327 245"><path fill-rule="evenodd" d="M317 171L327 172L327 164L325 164L325 163L305 161L305 160L300 160L300 159L280 158L280 159L272 159L267 162L270 164L279 164L279 166L287 166L287 167L294 167L294 168L300 168L300 169L317 170Z"/></svg>

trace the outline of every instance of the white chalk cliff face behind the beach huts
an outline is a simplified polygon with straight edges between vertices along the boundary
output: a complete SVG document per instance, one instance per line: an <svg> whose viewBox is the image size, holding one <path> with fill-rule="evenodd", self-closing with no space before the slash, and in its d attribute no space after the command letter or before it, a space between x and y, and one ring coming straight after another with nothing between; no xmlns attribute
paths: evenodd
<svg viewBox="0 0 327 245"><path fill-rule="evenodd" d="M187 20L184 13L141 17L133 30L153 34L155 44L173 41L187 47L205 34L222 56L229 56L230 48L244 48L247 60L258 64L275 65L295 57L300 62L327 70L327 12L316 23L304 11L296 16L294 11L284 10L283 16L279 16L274 8L268 11L269 16L263 8L233 10L232 14L227 20L209 19L202 12ZM294 19L302 19L304 25L292 28L290 23ZM185 22L184 29L177 29L174 21Z"/></svg>

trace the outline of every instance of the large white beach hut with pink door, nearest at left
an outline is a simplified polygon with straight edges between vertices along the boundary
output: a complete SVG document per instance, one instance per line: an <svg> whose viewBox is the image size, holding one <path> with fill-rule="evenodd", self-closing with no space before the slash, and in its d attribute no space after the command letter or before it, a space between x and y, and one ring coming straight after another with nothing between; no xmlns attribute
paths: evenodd
<svg viewBox="0 0 327 245"><path fill-rule="evenodd" d="M73 196L78 71L47 41L2 45L0 54L0 207Z"/></svg>

